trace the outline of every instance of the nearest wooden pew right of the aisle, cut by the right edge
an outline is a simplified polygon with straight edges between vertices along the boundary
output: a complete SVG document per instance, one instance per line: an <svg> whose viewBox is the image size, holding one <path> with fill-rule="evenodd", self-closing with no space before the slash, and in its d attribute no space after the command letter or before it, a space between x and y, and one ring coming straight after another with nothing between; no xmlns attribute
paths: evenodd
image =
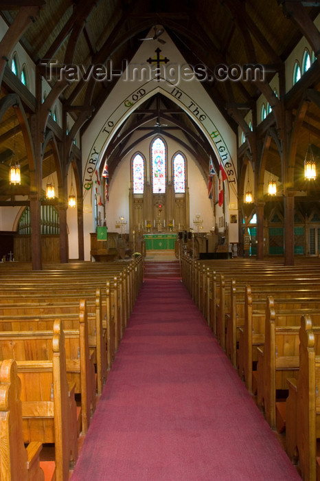
<svg viewBox="0 0 320 481"><path fill-rule="evenodd" d="M299 375L288 379L286 400L286 449L290 459L299 462L305 481L319 479L317 440L320 438L320 357L310 315L301 316L299 329Z"/></svg>

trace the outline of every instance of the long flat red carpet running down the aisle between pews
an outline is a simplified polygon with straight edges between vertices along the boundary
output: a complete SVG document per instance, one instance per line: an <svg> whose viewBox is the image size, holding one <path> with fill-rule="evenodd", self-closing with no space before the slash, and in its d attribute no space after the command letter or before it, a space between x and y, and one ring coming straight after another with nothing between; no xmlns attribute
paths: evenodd
<svg viewBox="0 0 320 481"><path fill-rule="evenodd" d="M71 481L295 479L183 284L145 280Z"/></svg>

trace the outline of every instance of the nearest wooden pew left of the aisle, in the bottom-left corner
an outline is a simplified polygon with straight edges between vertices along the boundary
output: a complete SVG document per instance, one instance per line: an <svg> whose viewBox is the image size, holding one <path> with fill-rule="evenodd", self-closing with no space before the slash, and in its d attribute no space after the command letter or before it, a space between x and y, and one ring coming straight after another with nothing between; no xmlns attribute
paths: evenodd
<svg viewBox="0 0 320 481"><path fill-rule="evenodd" d="M16 363L5 359L0 366L0 479L44 481L39 462L42 444L23 444L21 381Z"/></svg>

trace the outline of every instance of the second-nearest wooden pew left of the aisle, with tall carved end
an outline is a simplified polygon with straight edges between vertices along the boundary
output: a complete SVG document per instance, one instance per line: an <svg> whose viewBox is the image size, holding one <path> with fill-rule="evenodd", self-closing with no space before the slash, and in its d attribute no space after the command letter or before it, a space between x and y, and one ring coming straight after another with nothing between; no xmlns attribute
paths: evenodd
<svg viewBox="0 0 320 481"><path fill-rule="evenodd" d="M52 361L16 361L21 379L23 440L55 445L55 479L69 480L69 467L78 458L74 386L67 383L65 335L54 322Z"/></svg>

